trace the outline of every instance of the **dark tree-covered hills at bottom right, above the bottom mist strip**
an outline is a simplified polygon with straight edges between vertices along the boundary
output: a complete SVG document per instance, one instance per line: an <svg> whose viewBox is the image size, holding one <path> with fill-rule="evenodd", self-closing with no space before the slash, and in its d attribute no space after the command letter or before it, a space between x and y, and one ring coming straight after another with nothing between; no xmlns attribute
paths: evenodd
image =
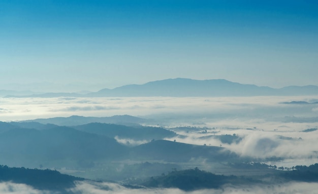
<svg viewBox="0 0 318 194"><path fill-rule="evenodd" d="M318 181L318 164L306 166L296 166L291 169L280 167L275 170L276 166L268 166L261 163L252 164L232 164L234 168L246 170L265 170L265 175L245 175L245 176L224 176L216 175L210 172L195 169L187 169L182 171L172 171L167 175L150 177L142 182L141 185L146 187L166 187L179 188L182 190L197 190L208 188L221 188L226 184L231 185L273 185L276 183L284 183L290 181L316 182Z"/></svg>

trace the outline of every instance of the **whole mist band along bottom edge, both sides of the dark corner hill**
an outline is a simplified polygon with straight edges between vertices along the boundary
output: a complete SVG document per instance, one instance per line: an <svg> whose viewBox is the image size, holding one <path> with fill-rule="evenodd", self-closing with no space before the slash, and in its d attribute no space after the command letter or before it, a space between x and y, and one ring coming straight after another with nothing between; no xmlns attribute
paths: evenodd
<svg viewBox="0 0 318 194"><path fill-rule="evenodd" d="M277 185L245 185L245 186L234 186L225 185L220 189L202 189L196 191L182 191L177 188L153 188L153 189L131 189L123 187L115 183L107 182L93 182L93 181L79 181L76 182L76 186L69 189L72 193L175 193L175 194L203 194L203 193L284 193L284 194L296 194L296 193L317 193L318 183L305 183L305 182L290 182ZM17 184L12 182L0 183L1 193L27 193L27 194L47 194L47 193L59 193L58 191L45 191L34 189L33 187L25 184Z"/></svg>

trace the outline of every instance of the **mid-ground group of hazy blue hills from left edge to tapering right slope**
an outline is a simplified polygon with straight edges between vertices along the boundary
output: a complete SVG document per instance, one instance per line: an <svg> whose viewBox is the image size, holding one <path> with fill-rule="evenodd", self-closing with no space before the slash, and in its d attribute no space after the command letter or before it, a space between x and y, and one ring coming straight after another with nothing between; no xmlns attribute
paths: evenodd
<svg viewBox="0 0 318 194"><path fill-rule="evenodd" d="M188 161L197 157L207 158L211 161L238 159L236 154L222 147L160 140L176 135L174 132L160 127L136 128L90 123L74 126L82 130L79 131L67 126L41 125L35 122L28 124L29 128L22 128L7 123L7 128L0 133L0 155L2 156L0 164L34 167L50 163L81 168L93 165L93 161L96 160L115 160L116 158L167 161ZM31 124L34 124L34 127ZM5 123L2 125L5 126ZM40 128L40 130L35 128ZM112 138L115 136L152 141L136 147L128 147ZM155 138L158 140L154 141Z"/></svg>

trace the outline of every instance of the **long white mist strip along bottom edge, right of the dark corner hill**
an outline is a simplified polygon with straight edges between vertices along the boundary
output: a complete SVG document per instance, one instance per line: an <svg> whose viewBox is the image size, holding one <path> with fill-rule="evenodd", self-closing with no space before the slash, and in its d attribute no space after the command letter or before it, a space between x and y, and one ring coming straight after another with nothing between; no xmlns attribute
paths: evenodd
<svg viewBox="0 0 318 194"><path fill-rule="evenodd" d="M71 189L72 192L86 193L174 193L174 194L243 194L243 193L284 193L284 194L296 194L296 193L318 193L318 183L306 183L306 182L290 182L283 184L255 184L255 185L224 185L220 189L200 189L195 191L183 191L177 188L141 188L131 189L120 186L115 183L97 183L81 181L76 183L76 187Z"/></svg>

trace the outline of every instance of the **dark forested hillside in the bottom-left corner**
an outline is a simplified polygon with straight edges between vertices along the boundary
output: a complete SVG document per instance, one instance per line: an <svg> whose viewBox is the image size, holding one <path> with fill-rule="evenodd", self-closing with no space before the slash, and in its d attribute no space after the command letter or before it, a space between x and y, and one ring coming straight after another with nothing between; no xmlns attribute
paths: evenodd
<svg viewBox="0 0 318 194"><path fill-rule="evenodd" d="M74 187L74 181L79 180L84 179L48 169L9 168L8 166L0 165L0 181L23 183L41 190L54 190L67 193L66 189Z"/></svg>

